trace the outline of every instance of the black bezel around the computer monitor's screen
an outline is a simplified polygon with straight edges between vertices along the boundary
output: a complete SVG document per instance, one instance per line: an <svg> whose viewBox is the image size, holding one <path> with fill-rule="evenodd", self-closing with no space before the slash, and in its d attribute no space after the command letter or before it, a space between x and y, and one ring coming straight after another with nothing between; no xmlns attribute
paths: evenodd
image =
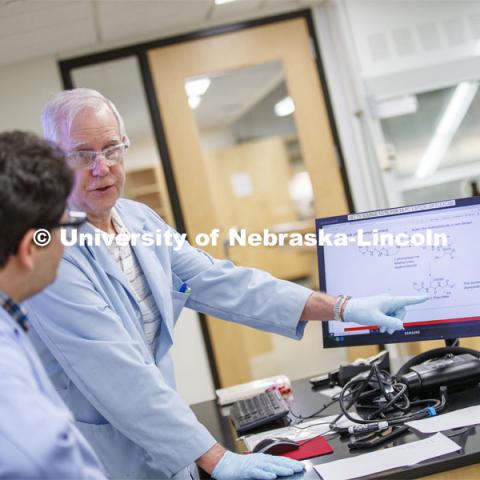
<svg viewBox="0 0 480 480"><path fill-rule="evenodd" d="M422 207L425 205L435 205L435 204L441 204L441 203L452 202L452 201L455 202L454 205L450 205L450 206L443 205L437 208L428 208L425 210L418 210L418 213L422 213L425 211L434 211L434 210L451 210L459 207L480 205L480 197L468 197L468 198L457 198L457 199L454 198L454 199L448 199L448 200L440 200L437 202L425 202L425 203L419 203L419 204L405 205L397 208L378 209L378 210L370 210L370 211L359 212L359 213L352 213L347 215L337 215L334 217L317 218L315 220L315 231L318 239L319 231L324 226L335 225L338 223L352 224L354 222L365 221L365 218L349 219L349 217L351 217L352 215L355 216L355 215L376 214L374 218L397 217L400 215L410 215L414 213L411 211L402 212L401 210L403 209L408 209L410 207ZM386 212L392 212L392 213L386 213ZM326 274L325 274L324 247L322 245L319 245L319 242L317 242L317 260L318 260L320 290L322 292L328 293L328 286L327 286ZM378 293L382 293L382 292L378 292ZM345 292L345 294L347 295L348 292ZM478 327L477 332L468 332L468 330L465 330L465 331L462 330L463 326L468 327L468 326L471 326L471 324L472 322L465 322L465 324L463 323L445 324L448 326L434 325L430 327L422 327L422 330L420 330L418 337L416 336L417 334L411 334L406 336L404 335L403 332L392 333L392 334L370 332L368 334L350 335L347 337L343 337L345 340L339 341L338 340L339 337L330 336L328 321L326 321L326 322L322 322L323 347L324 348L355 347L355 346L362 346L362 345L379 345L379 344L390 344L390 343L401 343L401 342L402 343L403 342L419 342L423 340L451 340L455 338L467 338L467 337L479 336L480 325Z"/></svg>

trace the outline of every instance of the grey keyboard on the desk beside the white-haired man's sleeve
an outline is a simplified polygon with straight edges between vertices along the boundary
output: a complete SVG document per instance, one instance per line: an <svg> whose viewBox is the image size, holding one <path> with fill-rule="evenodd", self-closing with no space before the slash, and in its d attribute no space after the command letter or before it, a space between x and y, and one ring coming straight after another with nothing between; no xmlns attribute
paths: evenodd
<svg viewBox="0 0 480 480"><path fill-rule="evenodd" d="M279 420L288 415L289 411L280 393L272 390L235 402L230 409L230 418L241 435Z"/></svg>

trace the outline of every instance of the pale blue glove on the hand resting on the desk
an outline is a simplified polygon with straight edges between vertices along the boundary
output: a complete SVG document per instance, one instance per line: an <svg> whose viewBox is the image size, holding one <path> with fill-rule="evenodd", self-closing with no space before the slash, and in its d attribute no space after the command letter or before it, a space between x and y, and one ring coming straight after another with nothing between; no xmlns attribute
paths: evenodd
<svg viewBox="0 0 480 480"><path fill-rule="evenodd" d="M272 480L288 477L305 469L303 463L265 453L239 455L226 451L212 472L217 480Z"/></svg>

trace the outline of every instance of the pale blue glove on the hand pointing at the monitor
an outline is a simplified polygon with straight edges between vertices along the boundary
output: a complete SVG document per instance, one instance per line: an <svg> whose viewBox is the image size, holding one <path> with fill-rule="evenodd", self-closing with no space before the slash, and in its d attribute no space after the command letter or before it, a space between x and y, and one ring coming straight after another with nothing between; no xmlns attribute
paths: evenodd
<svg viewBox="0 0 480 480"><path fill-rule="evenodd" d="M360 325L375 325L380 332L393 333L402 330L402 320L405 318L407 305L423 303L426 295L417 297L394 297L388 293L374 297L359 297L348 300L343 312L345 322L359 323Z"/></svg>

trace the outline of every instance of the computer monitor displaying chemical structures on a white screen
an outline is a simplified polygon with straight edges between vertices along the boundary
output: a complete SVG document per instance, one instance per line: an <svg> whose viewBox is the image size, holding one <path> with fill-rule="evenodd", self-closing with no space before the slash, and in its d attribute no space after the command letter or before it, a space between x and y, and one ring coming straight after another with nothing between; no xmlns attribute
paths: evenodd
<svg viewBox="0 0 480 480"><path fill-rule="evenodd" d="M324 347L480 336L480 197L320 218L316 228L323 291L352 297L428 296L425 303L407 307L405 329L393 334L323 322ZM374 234L382 233L408 234L411 241L408 246L374 242ZM420 246L414 246L416 233L426 243L435 243L432 233L441 234L443 240L429 246L420 245L417 238ZM332 239L356 235L357 241L332 244Z"/></svg>

